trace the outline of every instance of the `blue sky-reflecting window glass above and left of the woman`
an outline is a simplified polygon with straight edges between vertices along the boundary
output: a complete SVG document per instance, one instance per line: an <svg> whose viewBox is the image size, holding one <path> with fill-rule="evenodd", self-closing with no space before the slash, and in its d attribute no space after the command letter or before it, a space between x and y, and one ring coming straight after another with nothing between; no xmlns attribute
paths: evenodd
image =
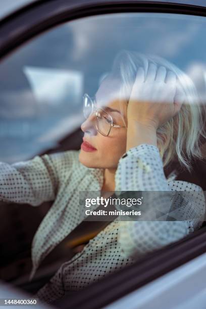
<svg viewBox="0 0 206 309"><path fill-rule="evenodd" d="M16 50L1 63L1 160L29 159L78 128L82 95L95 93L121 49L166 58L204 96L204 23L203 17L172 14L90 17Z"/></svg>

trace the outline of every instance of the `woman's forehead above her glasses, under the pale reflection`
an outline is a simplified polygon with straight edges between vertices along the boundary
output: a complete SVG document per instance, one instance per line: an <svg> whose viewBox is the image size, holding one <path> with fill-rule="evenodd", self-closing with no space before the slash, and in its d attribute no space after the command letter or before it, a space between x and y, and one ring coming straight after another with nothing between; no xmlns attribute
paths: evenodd
<svg viewBox="0 0 206 309"><path fill-rule="evenodd" d="M95 97L98 107L109 106L120 111L121 81L112 77L106 77L96 91ZM121 103L122 104L122 103ZM126 105L123 104L123 109Z"/></svg>

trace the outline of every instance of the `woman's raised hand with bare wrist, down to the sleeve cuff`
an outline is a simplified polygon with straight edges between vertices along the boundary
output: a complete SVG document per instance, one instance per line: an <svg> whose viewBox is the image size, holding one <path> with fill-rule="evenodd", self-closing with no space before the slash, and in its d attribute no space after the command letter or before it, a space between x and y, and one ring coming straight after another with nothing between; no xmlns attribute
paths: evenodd
<svg viewBox="0 0 206 309"><path fill-rule="evenodd" d="M142 143L157 146L157 129L177 115L184 101L176 75L150 64L144 81L139 68L127 107L126 150Z"/></svg>

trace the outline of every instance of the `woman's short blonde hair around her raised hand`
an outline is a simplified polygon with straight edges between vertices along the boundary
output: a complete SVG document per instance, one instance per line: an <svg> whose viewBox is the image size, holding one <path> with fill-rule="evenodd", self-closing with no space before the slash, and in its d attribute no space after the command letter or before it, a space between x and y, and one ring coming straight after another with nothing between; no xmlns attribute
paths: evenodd
<svg viewBox="0 0 206 309"><path fill-rule="evenodd" d="M125 49L116 56L110 75L122 81L120 95L125 97L127 93L131 93L131 85L134 84L138 68L142 67L146 76L149 63L173 71L186 97L179 113L157 130L163 166L168 165L176 156L180 165L191 172L192 157L202 159L200 135L206 138L200 101L192 80L174 64L161 57ZM122 108L121 111L123 113Z"/></svg>

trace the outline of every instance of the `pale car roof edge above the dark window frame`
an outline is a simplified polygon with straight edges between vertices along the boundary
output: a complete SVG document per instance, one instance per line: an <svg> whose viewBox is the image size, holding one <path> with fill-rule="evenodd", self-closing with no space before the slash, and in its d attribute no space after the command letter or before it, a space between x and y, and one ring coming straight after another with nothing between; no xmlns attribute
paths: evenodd
<svg viewBox="0 0 206 309"><path fill-rule="evenodd" d="M134 2L138 2L141 0L133 0ZM145 2L150 0L144 0ZM0 19L14 13L16 10L23 8L31 3L40 2L39 0L1 0L0 2ZM42 2L44 2L42 0ZM76 0L76 2L81 3L81 0ZM89 1L88 1L89 2ZM111 2L111 0L96 0L96 2ZM205 0L153 0L153 2L166 2L166 3L177 3L177 4L188 4L206 7ZM84 1L85 4L85 1Z"/></svg>

